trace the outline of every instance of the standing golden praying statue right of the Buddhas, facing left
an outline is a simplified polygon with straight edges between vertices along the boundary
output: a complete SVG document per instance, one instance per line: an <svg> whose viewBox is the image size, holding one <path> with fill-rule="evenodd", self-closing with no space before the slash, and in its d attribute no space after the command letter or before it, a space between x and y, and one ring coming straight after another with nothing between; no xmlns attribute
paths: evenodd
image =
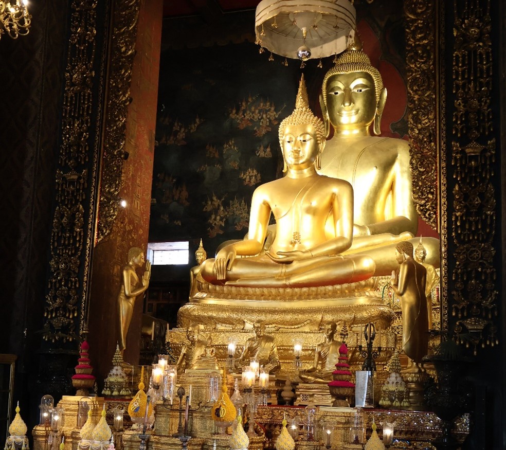
<svg viewBox="0 0 506 450"><path fill-rule="evenodd" d="M393 292L401 300L402 349L417 365L427 354L429 326L425 281L427 271L413 259L413 244L400 242L395 248L397 271L391 275Z"/></svg>

